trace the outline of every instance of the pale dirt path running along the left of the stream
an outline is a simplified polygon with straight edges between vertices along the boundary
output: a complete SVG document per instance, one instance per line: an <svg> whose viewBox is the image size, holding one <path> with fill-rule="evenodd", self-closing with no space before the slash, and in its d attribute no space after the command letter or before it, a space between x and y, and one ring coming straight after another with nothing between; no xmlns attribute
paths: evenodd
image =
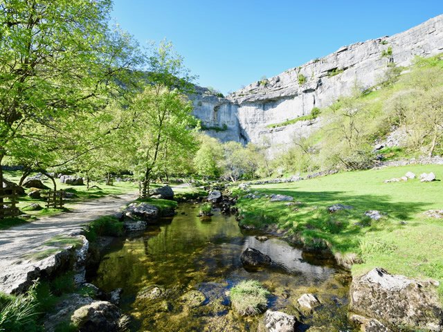
<svg viewBox="0 0 443 332"><path fill-rule="evenodd" d="M78 203L73 206L72 212L42 217L32 223L0 230L0 270L4 271L17 264L21 257L32 253L56 235L78 230L80 225L100 216L114 214L136 198L136 193L106 196Z"/></svg>

